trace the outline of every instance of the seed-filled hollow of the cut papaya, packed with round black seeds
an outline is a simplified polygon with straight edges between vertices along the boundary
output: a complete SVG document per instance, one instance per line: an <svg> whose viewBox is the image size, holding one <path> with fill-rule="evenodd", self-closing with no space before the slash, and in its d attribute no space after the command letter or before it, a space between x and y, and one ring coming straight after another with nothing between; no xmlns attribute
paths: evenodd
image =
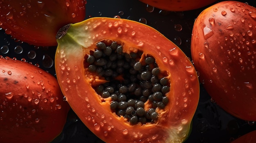
<svg viewBox="0 0 256 143"><path fill-rule="evenodd" d="M92 87L101 101L111 99L112 112L131 125L156 123L160 110L169 103L168 74L159 69L153 56L138 49L124 53L123 48L121 42L104 40L85 55L85 70L106 81Z"/></svg>

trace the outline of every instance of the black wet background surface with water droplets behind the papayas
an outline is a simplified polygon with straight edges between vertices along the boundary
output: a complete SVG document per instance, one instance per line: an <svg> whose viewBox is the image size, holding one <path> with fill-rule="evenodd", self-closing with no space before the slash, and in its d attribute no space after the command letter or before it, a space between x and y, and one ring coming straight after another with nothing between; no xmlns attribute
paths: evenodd
<svg viewBox="0 0 256 143"><path fill-rule="evenodd" d="M217 2L220 1L223 0ZM237 1L247 2L256 7L255 0ZM161 11L155 8L153 12L149 12L146 4L139 0L87 0L86 18L118 15L121 18L142 22L164 34L188 57L191 57L190 43L193 23L205 8L183 12ZM26 59L27 62L38 64L40 68L55 76L53 62L56 47L37 47L16 42L2 29L0 30L0 47L0 55ZM7 53L4 52L5 48L9 49ZM36 57L31 59L28 53L33 52L36 53ZM243 121L231 116L211 101L211 97L201 86L200 101L193 118L192 132L185 143L229 143L252 130L256 130L254 121ZM52 143L103 143L103 141L90 132L70 110L63 132Z"/></svg>

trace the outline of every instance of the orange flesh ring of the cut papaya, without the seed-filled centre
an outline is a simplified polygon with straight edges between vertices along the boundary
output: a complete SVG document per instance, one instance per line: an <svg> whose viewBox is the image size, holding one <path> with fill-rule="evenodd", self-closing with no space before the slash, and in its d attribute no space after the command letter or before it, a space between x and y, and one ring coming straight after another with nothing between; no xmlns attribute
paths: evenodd
<svg viewBox="0 0 256 143"><path fill-rule="evenodd" d="M92 88L91 84L106 81L84 68L84 56L104 40L121 42L124 53L144 51L168 74L169 102L164 110L156 109L157 123L130 125ZM199 100L198 76L189 58L161 33L131 20L90 18L71 24L57 42L55 68L61 90L81 121L100 139L107 143L182 143L188 137Z"/></svg>

